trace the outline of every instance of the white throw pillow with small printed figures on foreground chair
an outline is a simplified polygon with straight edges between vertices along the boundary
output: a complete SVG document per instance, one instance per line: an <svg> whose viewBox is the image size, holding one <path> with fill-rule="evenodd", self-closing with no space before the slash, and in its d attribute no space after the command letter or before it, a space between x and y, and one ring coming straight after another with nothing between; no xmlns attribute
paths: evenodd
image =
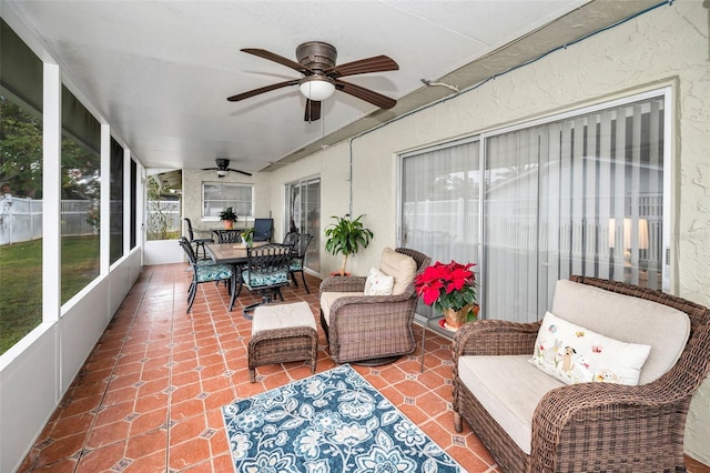
<svg viewBox="0 0 710 473"><path fill-rule="evenodd" d="M530 363L564 383L637 385L650 345L620 342L547 312Z"/></svg>

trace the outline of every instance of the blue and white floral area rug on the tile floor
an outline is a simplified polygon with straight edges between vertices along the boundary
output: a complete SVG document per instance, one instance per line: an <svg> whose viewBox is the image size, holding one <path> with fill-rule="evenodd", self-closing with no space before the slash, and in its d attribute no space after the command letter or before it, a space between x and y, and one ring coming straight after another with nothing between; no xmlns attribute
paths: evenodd
<svg viewBox="0 0 710 473"><path fill-rule="evenodd" d="M222 407L237 472L462 472L349 365Z"/></svg>

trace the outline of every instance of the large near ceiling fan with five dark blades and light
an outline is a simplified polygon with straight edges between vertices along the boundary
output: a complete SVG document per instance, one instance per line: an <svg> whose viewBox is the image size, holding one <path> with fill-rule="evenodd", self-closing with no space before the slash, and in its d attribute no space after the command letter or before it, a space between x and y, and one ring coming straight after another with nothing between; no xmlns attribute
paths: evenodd
<svg viewBox="0 0 710 473"><path fill-rule="evenodd" d="M293 79L285 82L273 83L271 85L250 90L248 92L237 93L229 97L226 100L236 102L258 95L260 93L271 92L288 85L298 85L301 93L306 98L305 121L315 121L321 118L321 101L327 99L339 90L358 99L365 100L381 109L392 109L397 101L377 93L373 90L365 89L354 83L345 82L339 78L345 76L366 74L371 72L396 71L399 66L387 56L375 56L358 61L347 62L345 64L335 66L337 50L335 47L322 42L310 41L304 42L296 48L296 59L298 62L286 59L265 49L246 48L242 51L270 61L278 62L287 68L294 69L303 74L301 79Z"/></svg>

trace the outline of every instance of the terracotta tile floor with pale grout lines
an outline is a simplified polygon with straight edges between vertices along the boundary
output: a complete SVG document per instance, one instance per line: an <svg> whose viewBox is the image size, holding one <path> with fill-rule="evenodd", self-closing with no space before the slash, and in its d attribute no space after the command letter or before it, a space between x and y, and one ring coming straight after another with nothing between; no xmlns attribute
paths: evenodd
<svg viewBox="0 0 710 473"><path fill-rule="evenodd" d="M320 280L284 291L318 311ZM232 472L220 407L311 375L303 363L260 366L248 382L251 322L227 312L224 286L200 284L185 313L184 264L146 266L40 434L20 471ZM239 303L256 299L244 290ZM316 318L317 320L317 318ZM422 340L422 329L416 326ZM497 472L471 431L453 427L450 342L427 334L424 373L419 351L396 363L354 366L469 472ZM320 332L317 371L334 363ZM688 460L689 471L710 467Z"/></svg>

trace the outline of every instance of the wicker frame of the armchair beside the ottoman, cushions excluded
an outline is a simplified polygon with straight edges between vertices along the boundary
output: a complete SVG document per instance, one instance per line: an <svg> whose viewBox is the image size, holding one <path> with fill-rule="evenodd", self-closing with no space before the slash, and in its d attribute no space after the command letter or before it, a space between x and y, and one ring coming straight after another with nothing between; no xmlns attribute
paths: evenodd
<svg viewBox="0 0 710 473"><path fill-rule="evenodd" d="M395 251L415 260L416 274L432 261L415 250L397 248ZM365 276L331 276L321 283L321 294L354 293L333 303L328 320L321 308L321 326L328 340L331 358L336 363L384 364L416 349L412 330L417 305L414 281L402 294L363 295L365 280Z"/></svg>

